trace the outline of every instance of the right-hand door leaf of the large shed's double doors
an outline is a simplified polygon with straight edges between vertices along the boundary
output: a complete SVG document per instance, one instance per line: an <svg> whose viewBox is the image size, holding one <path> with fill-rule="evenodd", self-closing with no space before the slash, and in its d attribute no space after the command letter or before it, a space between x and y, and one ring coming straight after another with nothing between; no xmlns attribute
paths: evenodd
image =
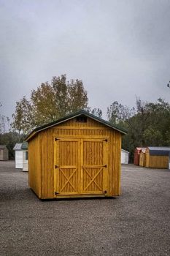
<svg viewBox="0 0 170 256"><path fill-rule="evenodd" d="M107 140L82 140L82 193L107 193L108 149Z"/></svg>

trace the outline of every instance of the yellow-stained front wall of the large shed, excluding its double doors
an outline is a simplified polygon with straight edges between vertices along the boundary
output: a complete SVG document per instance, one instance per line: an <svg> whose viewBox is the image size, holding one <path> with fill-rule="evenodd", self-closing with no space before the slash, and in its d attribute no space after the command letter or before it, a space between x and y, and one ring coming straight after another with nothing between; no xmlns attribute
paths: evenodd
<svg viewBox="0 0 170 256"><path fill-rule="evenodd" d="M40 145L40 167L41 167L41 187L42 198L54 197L53 184L53 135L104 135L109 136L109 178L108 196L120 195L120 154L121 154L121 133L106 127L100 122L88 118L87 123L77 123L76 118L65 121L63 124L56 125L49 129L39 132ZM34 141L34 138L31 141ZM28 143L28 145L31 142ZM29 147L29 157L31 148ZM29 167L30 168L30 167Z"/></svg>

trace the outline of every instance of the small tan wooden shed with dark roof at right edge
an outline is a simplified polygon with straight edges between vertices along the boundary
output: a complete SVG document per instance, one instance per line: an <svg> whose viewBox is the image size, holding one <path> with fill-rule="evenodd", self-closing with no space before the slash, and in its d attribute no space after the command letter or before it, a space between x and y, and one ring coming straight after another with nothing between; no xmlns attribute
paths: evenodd
<svg viewBox="0 0 170 256"><path fill-rule="evenodd" d="M170 147L147 147L146 167L168 169L169 152Z"/></svg>

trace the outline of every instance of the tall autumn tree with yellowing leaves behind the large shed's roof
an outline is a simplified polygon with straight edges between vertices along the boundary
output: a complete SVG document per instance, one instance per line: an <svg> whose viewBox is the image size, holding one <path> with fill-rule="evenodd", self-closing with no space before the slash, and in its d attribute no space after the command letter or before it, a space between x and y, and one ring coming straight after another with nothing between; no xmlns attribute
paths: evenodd
<svg viewBox="0 0 170 256"><path fill-rule="evenodd" d="M31 91L30 100L23 97L16 102L12 127L28 133L31 129L58 118L88 108L88 93L82 80L66 81L66 75L53 77L51 83L42 83Z"/></svg>

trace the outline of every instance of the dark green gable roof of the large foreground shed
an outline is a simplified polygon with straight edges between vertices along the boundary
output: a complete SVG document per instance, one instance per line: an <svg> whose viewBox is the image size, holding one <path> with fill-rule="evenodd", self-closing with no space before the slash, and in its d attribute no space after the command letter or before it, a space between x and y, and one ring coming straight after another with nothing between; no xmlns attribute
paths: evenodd
<svg viewBox="0 0 170 256"><path fill-rule="evenodd" d="M112 128L112 129L116 129L118 132L121 132L121 133L123 133L123 134L126 134L126 133L127 133L127 131L126 131L125 129L120 128L120 127L117 127L117 125L112 124L112 123L109 123L109 121L105 121L104 119L99 118L98 116L94 116L93 114L88 113L88 112L85 111L85 110L80 110L80 111L78 111L78 112L76 112L76 113L73 113L73 114L71 114L71 115L69 115L69 116L65 116L65 117L63 117L63 118L59 118L58 120L53 121L53 122L50 122L49 124L44 124L44 125L42 125L41 127L35 128L35 129L27 136L26 141L30 140L30 139L36 134L36 132L39 132L39 131L41 131L42 129L47 129L47 128L49 128L49 127L53 127L53 126L55 126L56 124L63 123L64 121L67 121L67 120L69 120L69 119L72 119L72 118L74 118L74 117L81 116L81 115L88 116L88 117L90 117L90 118L92 118L92 119L94 119L94 120L96 120L96 121L99 121L99 122L102 123L102 124L107 125L107 127L110 127L110 128Z"/></svg>

